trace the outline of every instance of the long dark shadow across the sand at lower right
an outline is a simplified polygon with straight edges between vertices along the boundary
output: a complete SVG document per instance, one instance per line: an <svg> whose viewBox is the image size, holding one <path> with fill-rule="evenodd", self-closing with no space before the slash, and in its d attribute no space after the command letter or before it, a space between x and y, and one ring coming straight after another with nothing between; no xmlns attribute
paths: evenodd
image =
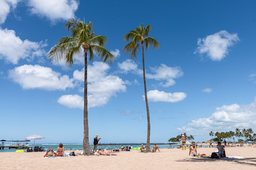
<svg viewBox="0 0 256 170"><path fill-rule="evenodd" d="M175 160L176 162L218 162L218 161L227 161L237 164L243 164L243 165L254 165L256 166L256 158L235 158L235 159L211 159L211 158L187 158L187 159L180 159Z"/></svg>

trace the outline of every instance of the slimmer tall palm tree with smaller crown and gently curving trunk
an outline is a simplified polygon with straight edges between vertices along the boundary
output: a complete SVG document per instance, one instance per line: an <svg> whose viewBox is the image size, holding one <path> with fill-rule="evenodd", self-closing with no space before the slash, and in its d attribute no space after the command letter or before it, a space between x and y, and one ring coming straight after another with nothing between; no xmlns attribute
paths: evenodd
<svg viewBox="0 0 256 170"><path fill-rule="evenodd" d="M146 110L147 110L147 118L148 118L148 134L147 134L146 152L150 152L150 116L149 116L148 97L147 97L147 88L146 88L144 44L146 46L146 50L148 50L149 46L152 46L153 49L158 49L160 47L156 39L152 37L148 37L148 33L150 29L151 29L150 25L147 25L146 27L144 27L142 23L141 26L136 27L135 30L131 30L129 33L125 34L123 38L123 41L131 40L131 42L124 47L124 51L126 53L131 52L130 58L136 59L136 54L138 53L138 51L140 51L140 46L142 49L144 93L145 93L145 102L146 102Z"/></svg>

